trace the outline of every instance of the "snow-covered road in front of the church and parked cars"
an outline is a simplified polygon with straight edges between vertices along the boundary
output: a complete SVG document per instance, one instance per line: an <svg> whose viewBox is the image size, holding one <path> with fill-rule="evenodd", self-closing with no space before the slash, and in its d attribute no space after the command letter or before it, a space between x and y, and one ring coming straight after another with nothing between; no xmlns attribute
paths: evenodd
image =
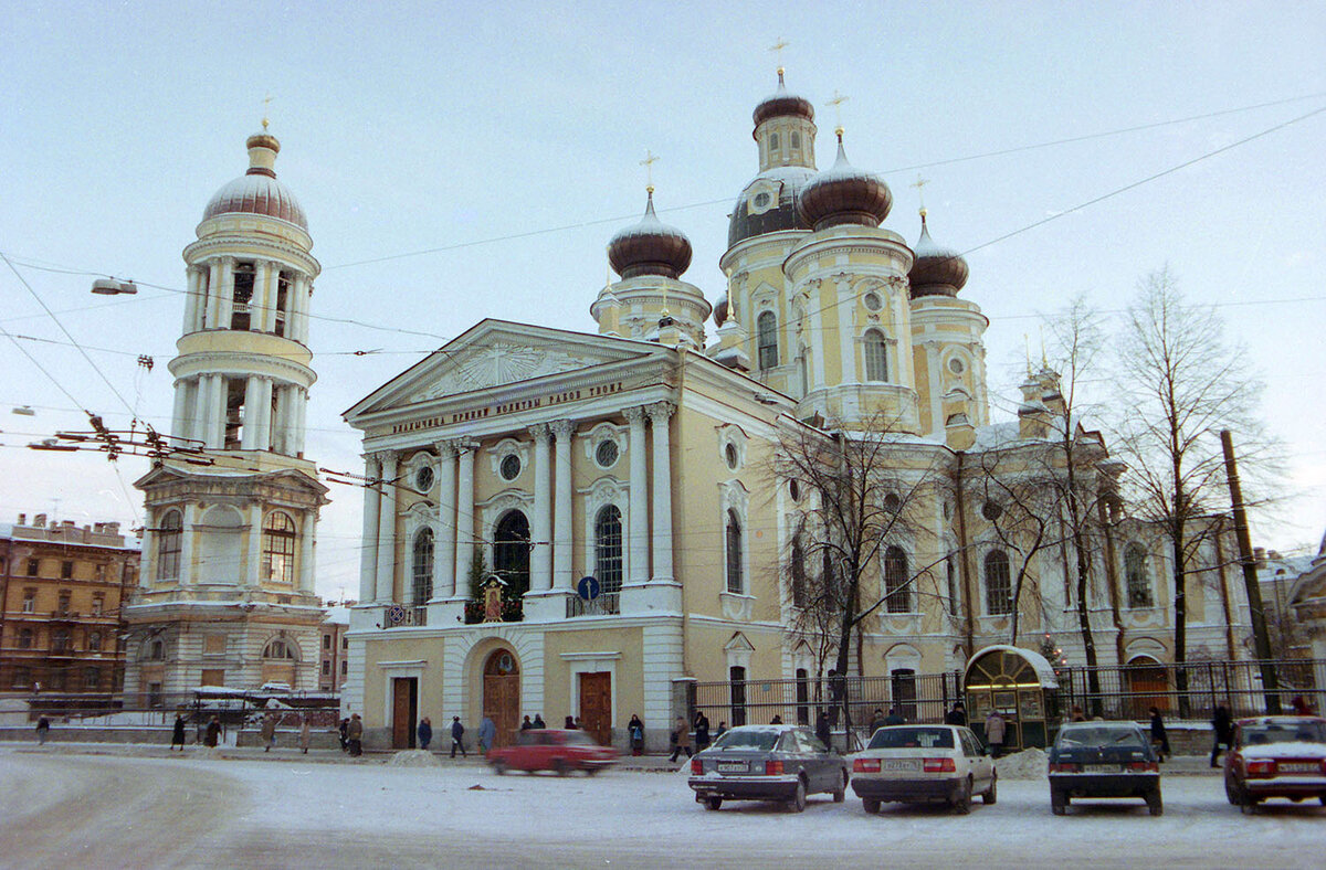
<svg viewBox="0 0 1326 870"><path fill-rule="evenodd" d="M481 787L481 788L475 788ZM107 757L0 749L0 866L1268 866L1319 867L1326 808L1229 806L1216 777L1050 816L1044 780L967 817L812 798L705 812L684 775L495 776L475 765ZM731 809L729 809L731 808Z"/></svg>

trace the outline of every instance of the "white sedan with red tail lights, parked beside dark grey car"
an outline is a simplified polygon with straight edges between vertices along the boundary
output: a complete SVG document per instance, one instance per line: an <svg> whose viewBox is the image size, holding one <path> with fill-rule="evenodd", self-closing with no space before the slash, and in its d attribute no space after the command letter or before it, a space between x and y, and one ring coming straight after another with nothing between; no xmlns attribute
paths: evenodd
<svg viewBox="0 0 1326 870"><path fill-rule="evenodd" d="M887 801L943 801L972 812L972 796L997 797L989 749L963 726L886 726L851 761L851 791L867 813Z"/></svg>

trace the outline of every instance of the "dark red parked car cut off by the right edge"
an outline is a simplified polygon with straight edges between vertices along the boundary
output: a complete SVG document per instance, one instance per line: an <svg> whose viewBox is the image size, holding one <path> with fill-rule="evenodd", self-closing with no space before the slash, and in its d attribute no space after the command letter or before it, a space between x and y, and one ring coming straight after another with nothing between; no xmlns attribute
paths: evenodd
<svg viewBox="0 0 1326 870"><path fill-rule="evenodd" d="M1326 804L1326 719L1258 716L1235 723L1225 796L1245 813L1268 797Z"/></svg>

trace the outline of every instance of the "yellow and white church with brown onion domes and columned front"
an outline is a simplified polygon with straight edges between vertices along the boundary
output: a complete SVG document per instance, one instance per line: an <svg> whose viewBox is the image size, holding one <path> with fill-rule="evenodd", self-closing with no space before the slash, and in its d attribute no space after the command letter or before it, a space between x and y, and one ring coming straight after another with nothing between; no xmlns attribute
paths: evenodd
<svg viewBox="0 0 1326 870"><path fill-rule="evenodd" d="M737 720L761 687L831 666L793 630L784 576L809 497L770 474L781 444L887 418L899 473L961 477L973 457L1052 436L1062 399L1044 369L1018 418L991 424L987 319L924 212L915 244L883 226L888 187L847 162L841 131L818 171L813 106L781 70L753 121L758 172L731 216L716 306L682 279L690 241L651 189L609 245L621 279L586 298L597 334L485 319L345 413L377 481L342 697L366 744L412 746L424 715L488 715L501 742L536 712L621 744L638 714L660 748L696 686L728 686ZM1081 438L1110 486L1116 465ZM927 534L875 567L866 599L894 595L853 673L951 673L1009 640L1010 560L989 506L961 487L918 498ZM1091 555L1095 645L1101 663L1144 671L1171 655L1171 572L1154 536L1109 526L1122 538ZM1189 589L1189 650L1244 657L1246 605L1217 556ZM1069 557L1049 548L1029 568L1022 644L1044 636L1081 663Z"/></svg>

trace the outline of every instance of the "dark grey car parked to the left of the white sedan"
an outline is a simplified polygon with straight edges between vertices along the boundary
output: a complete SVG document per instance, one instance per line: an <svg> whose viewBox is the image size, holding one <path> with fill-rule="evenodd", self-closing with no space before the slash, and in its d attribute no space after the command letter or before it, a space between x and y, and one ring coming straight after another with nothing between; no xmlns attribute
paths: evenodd
<svg viewBox="0 0 1326 870"><path fill-rule="evenodd" d="M786 801L800 813L806 796L847 796L847 761L797 726L739 726L691 759L695 800L719 809L725 800Z"/></svg>

